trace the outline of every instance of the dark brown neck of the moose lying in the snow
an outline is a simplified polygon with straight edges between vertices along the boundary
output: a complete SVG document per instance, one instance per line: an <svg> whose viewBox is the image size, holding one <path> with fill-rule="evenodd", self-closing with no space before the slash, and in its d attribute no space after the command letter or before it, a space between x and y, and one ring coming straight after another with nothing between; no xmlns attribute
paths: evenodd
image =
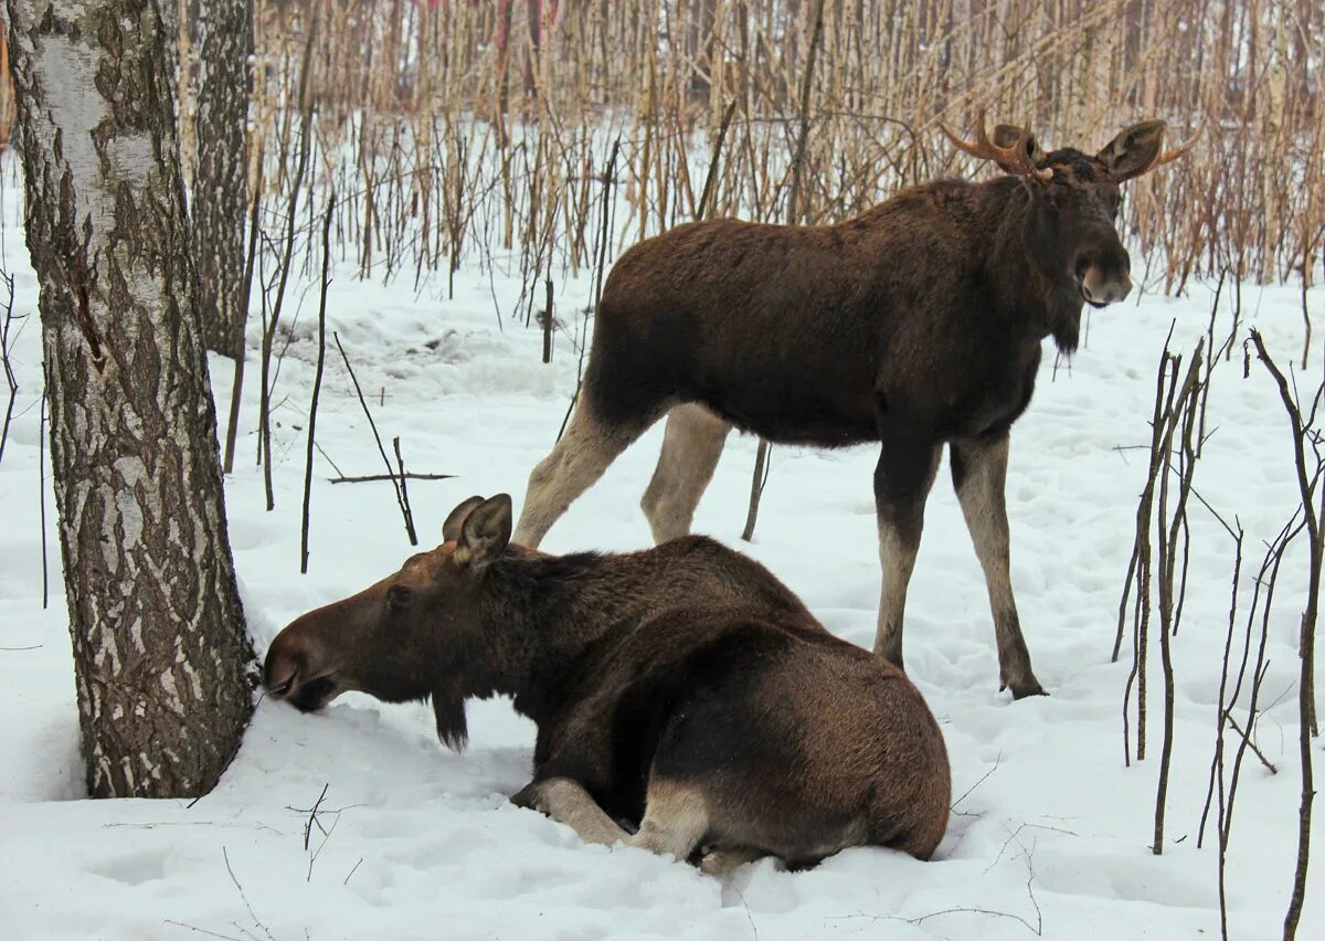
<svg viewBox="0 0 1325 941"><path fill-rule="evenodd" d="M535 722L564 698L587 648L651 604L649 554L507 555L484 575L477 684L468 696L505 693Z"/></svg>

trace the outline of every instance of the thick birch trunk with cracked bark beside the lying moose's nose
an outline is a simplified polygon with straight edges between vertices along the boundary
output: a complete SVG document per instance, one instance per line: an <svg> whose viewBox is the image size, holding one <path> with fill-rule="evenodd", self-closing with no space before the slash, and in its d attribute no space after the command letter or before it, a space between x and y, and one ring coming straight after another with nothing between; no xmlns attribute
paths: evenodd
<svg viewBox="0 0 1325 941"><path fill-rule="evenodd" d="M87 790L208 791L253 709L156 0L7 0Z"/></svg>

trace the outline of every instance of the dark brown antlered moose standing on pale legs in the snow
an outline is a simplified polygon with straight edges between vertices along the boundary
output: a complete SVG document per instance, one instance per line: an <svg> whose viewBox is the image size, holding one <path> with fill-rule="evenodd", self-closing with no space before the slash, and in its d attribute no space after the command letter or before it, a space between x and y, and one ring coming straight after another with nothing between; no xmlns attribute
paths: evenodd
<svg viewBox="0 0 1325 941"><path fill-rule="evenodd" d="M902 611L942 447L994 614L999 676L1043 693L1008 575L1008 429L1031 400L1040 345L1076 350L1081 307L1132 290L1118 187L1186 152L1165 122L1094 156L1044 152L979 115L974 143L1007 176L904 190L836 225L730 219L635 245L603 289L584 390L534 468L515 541L537 547L570 504L668 415L641 505L657 542L689 531L731 427L770 441L878 441L882 594L874 651L902 665Z"/></svg>

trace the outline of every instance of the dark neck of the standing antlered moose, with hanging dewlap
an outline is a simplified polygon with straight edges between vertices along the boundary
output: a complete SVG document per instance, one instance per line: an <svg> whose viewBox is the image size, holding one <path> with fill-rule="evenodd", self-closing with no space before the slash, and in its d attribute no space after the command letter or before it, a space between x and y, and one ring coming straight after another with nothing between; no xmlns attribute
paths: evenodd
<svg viewBox="0 0 1325 941"><path fill-rule="evenodd" d="M1081 296L1065 289L1040 261L1047 248L1035 244L1031 194L1011 176L975 187L978 216L984 223L984 268L999 310L1026 323L1028 339L1053 337L1059 350L1075 353L1081 329Z"/></svg>

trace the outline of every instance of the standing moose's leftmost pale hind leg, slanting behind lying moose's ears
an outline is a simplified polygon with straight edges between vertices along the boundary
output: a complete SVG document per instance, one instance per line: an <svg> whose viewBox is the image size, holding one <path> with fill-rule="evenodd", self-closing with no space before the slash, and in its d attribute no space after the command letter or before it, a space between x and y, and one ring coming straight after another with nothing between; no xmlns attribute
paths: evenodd
<svg viewBox="0 0 1325 941"><path fill-rule="evenodd" d="M611 425L594 415L587 399L580 399L562 440L529 474L525 508L511 542L538 549L575 498L602 477L608 464L653 420L651 416L639 425Z"/></svg>

